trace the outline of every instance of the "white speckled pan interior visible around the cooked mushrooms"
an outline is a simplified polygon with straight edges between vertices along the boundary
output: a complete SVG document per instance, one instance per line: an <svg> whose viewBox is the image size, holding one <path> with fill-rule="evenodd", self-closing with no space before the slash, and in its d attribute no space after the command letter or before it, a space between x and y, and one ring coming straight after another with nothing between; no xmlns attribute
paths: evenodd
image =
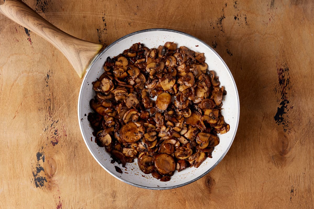
<svg viewBox="0 0 314 209"><path fill-rule="evenodd" d="M89 107L89 101L95 96L92 89L92 82L99 78L103 73L103 65L108 56L112 58L122 53L123 50L128 49L134 43L140 42L148 48L157 48L159 45L164 45L167 41L175 42L178 47L186 46L191 50L205 53L205 62L208 64L208 69L215 71L216 75L219 76L221 85L225 86L225 90L227 91L227 95L223 100L224 109L222 110L222 115L224 116L226 123L230 124L230 131L219 135L220 143L215 147L212 153L213 158L207 158L197 169L187 168L181 172L176 171L170 181L161 182L160 180L153 178L151 174L146 175L139 170L137 160L134 160L134 163L127 163L126 170L121 164L111 164L110 154L105 151L105 148L99 147L94 141L95 137L92 134L93 129L89 125L87 115L89 112L92 112L92 109ZM172 189L187 185L200 179L212 170L227 154L236 135L239 116L240 103L236 83L225 62L203 41L189 34L170 29L141 30L128 34L110 44L95 58L87 69L78 97L78 121L81 133L87 148L99 165L123 182L141 188L154 190ZM122 169L122 174L115 170L115 165Z"/></svg>

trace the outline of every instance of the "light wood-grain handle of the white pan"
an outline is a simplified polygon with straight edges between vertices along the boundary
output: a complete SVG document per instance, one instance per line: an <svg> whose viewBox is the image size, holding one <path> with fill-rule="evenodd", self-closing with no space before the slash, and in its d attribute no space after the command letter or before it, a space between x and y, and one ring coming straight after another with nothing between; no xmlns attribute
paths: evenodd
<svg viewBox="0 0 314 209"><path fill-rule="evenodd" d="M53 44L69 60L80 78L103 47L102 44L84 41L63 32L19 0L6 0L0 5L0 12Z"/></svg>

